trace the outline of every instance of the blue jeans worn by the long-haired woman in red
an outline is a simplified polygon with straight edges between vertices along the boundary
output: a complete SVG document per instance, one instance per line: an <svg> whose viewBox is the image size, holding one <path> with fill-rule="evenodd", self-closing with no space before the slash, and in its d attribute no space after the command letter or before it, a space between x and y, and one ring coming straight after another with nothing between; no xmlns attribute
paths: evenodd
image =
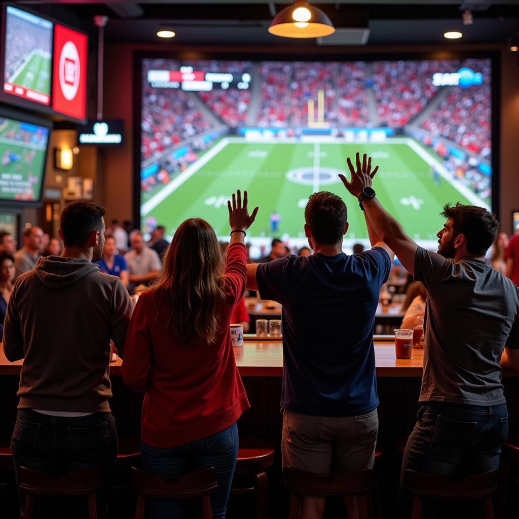
<svg viewBox="0 0 519 519"><path fill-rule="evenodd" d="M216 469L218 487L211 493L211 508L214 519L224 519L233 482L236 458L238 456L238 427L231 425L221 432L170 448L141 446L142 463L147 472L154 474L182 475L186 472ZM148 499L151 519L182 518L181 499ZM200 513L198 510L198 513Z"/></svg>

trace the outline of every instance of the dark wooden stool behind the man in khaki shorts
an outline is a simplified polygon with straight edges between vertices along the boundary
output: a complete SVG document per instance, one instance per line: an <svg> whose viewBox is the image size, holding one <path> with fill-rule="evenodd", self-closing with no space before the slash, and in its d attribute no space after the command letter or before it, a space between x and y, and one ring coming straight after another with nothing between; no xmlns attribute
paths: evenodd
<svg viewBox="0 0 519 519"><path fill-rule="evenodd" d="M289 519L298 519L301 513L301 499L305 496L356 496L359 518L373 517L371 500L374 480L372 470L323 475L285 467L283 477L285 487L292 494Z"/></svg>

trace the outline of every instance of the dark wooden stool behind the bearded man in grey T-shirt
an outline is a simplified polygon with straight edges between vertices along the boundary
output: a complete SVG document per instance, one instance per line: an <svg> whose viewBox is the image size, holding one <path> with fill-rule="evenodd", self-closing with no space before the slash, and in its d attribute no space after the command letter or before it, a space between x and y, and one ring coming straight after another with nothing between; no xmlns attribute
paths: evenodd
<svg viewBox="0 0 519 519"><path fill-rule="evenodd" d="M484 519L494 519L492 494L497 488L497 470L476 474L461 481L448 480L446 477L424 474L414 470L406 470L404 488L414 494L413 514L411 519L421 517L422 499L424 497L447 501L469 501L484 499Z"/></svg>

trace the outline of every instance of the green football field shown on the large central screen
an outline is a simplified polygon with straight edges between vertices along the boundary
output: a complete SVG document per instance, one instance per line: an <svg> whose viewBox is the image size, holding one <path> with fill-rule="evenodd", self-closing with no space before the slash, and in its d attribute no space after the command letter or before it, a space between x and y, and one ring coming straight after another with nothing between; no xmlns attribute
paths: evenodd
<svg viewBox="0 0 519 519"><path fill-rule="evenodd" d="M347 170L346 157L354 162L357 151L371 155L373 165L379 166L373 183L377 198L414 239L436 240L435 233L444 222L439 213L446 202L477 201L467 188L455 187L445 176L434 173L431 166L441 170L441 164L410 139L345 144L252 143L230 138L217 143L146 201L141 216L143 220L155 218L158 224L166 226L169 235L186 218L200 217L215 228L218 236L227 236L227 199L240 188L248 190L251 209L260 207L248 238L303 238L308 197L327 190L346 202L350 224L346 237L367 239L357 200L337 177ZM281 215L276 233L270 226L274 212Z"/></svg>

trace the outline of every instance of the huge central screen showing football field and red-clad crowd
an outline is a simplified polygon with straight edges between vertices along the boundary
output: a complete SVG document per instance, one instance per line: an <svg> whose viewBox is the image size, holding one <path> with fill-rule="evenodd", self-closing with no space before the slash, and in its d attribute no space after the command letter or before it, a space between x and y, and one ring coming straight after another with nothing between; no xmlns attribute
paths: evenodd
<svg viewBox="0 0 519 519"><path fill-rule="evenodd" d="M228 240L227 199L260 206L247 240L306 243L311 193L342 196L345 248L368 242L338 173L373 158L384 206L425 246L446 202L490 208L491 69L487 58L370 61L141 59L140 217L168 235L188 217Z"/></svg>

